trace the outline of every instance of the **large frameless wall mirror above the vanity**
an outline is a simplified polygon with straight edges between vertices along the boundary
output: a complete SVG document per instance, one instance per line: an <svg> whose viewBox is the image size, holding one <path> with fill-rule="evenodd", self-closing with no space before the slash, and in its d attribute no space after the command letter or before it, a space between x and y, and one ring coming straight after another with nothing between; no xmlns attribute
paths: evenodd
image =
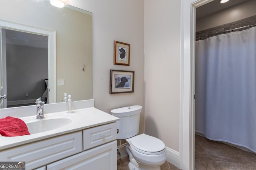
<svg viewBox="0 0 256 170"><path fill-rule="evenodd" d="M0 24L11 23L1 24L5 107L34 104L38 97L62 102L63 93L74 101L92 99L90 12L48 0L0 0L0 16Z"/></svg>

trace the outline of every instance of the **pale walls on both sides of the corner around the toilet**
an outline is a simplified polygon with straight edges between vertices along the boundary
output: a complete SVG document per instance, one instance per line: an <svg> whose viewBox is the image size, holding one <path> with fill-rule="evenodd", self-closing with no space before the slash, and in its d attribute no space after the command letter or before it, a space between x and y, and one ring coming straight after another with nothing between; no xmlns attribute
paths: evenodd
<svg viewBox="0 0 256 170"><path fill-rule="evenodd" d="M92 94L96 108L110 113L111 109L127 105L144 106L145 100L140 132L144 131L145 120L147 134L178 151L180 0L69 3L92 12ZM130 43L130 66L113 64L114 40ZM110 69L135 71L134 93L110 95Z"/></svg>

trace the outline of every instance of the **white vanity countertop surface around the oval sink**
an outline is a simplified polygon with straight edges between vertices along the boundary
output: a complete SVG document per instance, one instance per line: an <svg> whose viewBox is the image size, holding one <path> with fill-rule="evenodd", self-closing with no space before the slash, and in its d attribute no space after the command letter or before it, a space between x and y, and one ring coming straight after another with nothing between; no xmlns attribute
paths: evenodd
<svg viewBox="0 0 256 170"><path fill-rule="evenodd" d="M18 146L21 144L43 140L53 136L67 134L70 132L75 132L75 131L90 128L90 127L104 125L107 123L113 123L119 120L117 117L114 117L106 112L100 111L95 107L90 107L86 109L77 109L77 110L74 110L73 113L66 113L66 111L48 113L48 114L44 114L44 117L45 117L44 119L48 119L50 117L56 117L56 116L61 118L65 118L65 116L69 117L70 119L72 119L72 122L60 128L55 128L53 130L48 130L45 132L40 132L40 133L35 133L30 135L14 136L14 137L6 137L6 136L0 135L0 151L10 147ZM36 119L36 115L28 116L28 117L19 117L19 118L25 121L26 123L27 121ZM37 119L36 121L40 121L40 120Z"/></svg>

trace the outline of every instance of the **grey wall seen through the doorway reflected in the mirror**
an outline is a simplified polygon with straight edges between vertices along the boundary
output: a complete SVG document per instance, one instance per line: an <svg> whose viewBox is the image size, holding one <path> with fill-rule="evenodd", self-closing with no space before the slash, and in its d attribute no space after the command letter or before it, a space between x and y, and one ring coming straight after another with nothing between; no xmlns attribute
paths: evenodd
<svg viewBox="0 0 256 170"><path fill-rule="evenodd" d="M34 99L34 103L42 97L46 88L44 79L48 79L47 67L48 49L6 44L7 103L29 99Z"/></svg>

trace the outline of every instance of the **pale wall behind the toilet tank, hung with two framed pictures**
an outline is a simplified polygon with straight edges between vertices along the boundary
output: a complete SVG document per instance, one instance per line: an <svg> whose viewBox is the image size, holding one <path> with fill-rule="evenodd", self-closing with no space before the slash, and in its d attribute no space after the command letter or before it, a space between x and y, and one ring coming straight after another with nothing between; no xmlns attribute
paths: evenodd
<svg viewBox="0 0 256 170"><path fill-rule="evenodd" d="M69 0L92 12L92 98L107 113L128 105L144 107L143 0ZM114 40L130 43L130 66L114 65ZM134 93L109 94L110 69L135 71ZM140 132L144 131L141 114Z"/></svg>

